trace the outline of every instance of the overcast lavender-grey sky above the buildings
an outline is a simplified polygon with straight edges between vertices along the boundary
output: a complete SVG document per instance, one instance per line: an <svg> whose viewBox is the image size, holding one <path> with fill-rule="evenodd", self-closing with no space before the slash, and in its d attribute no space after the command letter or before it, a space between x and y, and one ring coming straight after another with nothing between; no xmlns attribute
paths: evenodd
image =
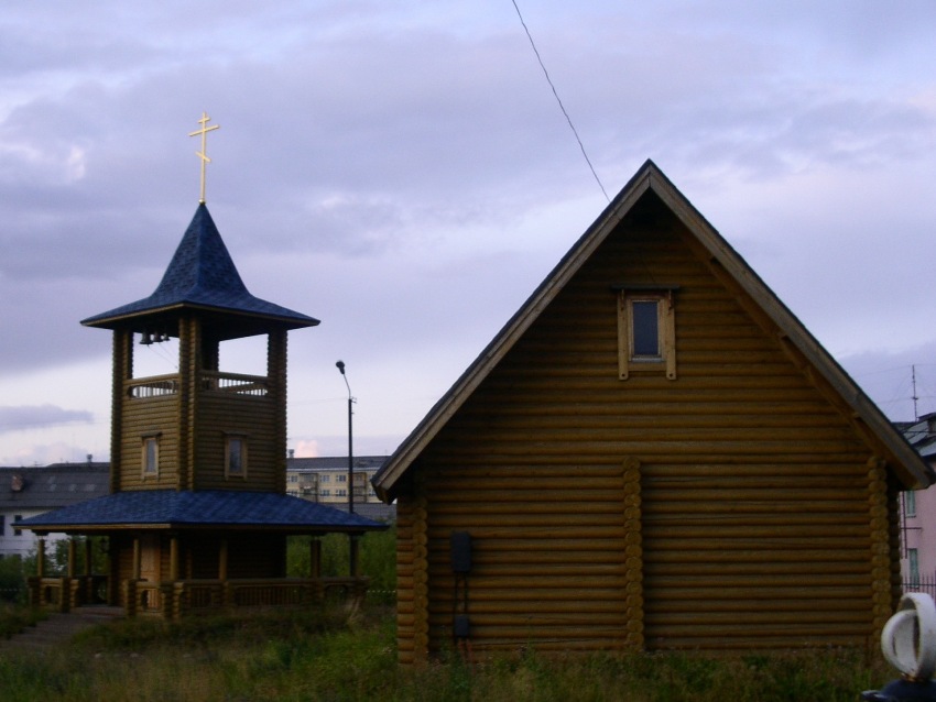
<svg viewBox="0 0 936 702"><path fill-rule="evenodd" d="M653 158L891 418L914 366L936 410L936 3L518 6L609 196ZM4 3L0 464L109 458L78 322L157 285L203 111L241 277L322 319L298 456L347 450L338 359L356 453L391 452L607 205L512 0Z"/></svg>

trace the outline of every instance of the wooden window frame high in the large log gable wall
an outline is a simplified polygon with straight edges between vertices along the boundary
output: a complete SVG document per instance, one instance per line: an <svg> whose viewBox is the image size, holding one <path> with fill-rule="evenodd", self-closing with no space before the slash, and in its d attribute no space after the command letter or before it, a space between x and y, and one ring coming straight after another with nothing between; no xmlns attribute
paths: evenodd
<svg viewBox="0 0 936 702"><path fill-rule="evenodd" d="M639 371L662 372L676 380L676 285L614 286L618 292L618 379L625 381ZM656 348L659 355L634 352L634 303L656 304Z"/></svg>

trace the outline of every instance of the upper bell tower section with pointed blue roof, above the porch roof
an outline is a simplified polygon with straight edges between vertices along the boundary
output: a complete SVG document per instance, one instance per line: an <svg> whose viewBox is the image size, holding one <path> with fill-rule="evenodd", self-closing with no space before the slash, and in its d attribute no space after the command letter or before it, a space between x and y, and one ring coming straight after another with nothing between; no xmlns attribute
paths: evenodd
<svg viewBox="0 0 936 702"><path fill-rule="evenodd" d="M285 493L286 333L318 320L248 292L205 202L150 297L81 323L113 332L112 493ZM225 342L259 334L265 375L226 372ZM172 338L177 372L135 377L134 350Z"/></svg>

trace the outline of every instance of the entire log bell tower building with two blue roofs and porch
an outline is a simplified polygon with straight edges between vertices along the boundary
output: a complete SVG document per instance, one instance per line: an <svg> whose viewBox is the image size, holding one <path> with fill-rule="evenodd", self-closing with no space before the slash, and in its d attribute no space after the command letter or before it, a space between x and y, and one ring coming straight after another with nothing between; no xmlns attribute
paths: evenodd
<svg viewBox="0 0 936 702"><path fill-rule="evenodd" d="M204 201L155 292L81 323L113 336L110 491L18 526L104 536L110 570L76 572L73 548L67 575L46 578L40 539L35 604L67 611L102 599L177 617L305 604L330 585L362 593L353 562L350 578L319 578L316 540L312 578L285 577L287 536L385 526L286 495L286 334L318 320L248 292ZM265 373L224 370L226 342L261 334ZM134 350L168 339L177 371L135 376Z"/></svg>

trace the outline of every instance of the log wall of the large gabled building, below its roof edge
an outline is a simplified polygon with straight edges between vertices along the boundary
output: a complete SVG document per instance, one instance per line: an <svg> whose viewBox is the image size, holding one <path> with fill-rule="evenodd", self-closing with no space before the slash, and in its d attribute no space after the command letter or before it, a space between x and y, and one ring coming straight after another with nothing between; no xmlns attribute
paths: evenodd
<svg viewBox="0 0 936 702"><path fill-rule="evenodd" d="M884 469L869 469L850 419L682 224L643 215L422 452L425 650L451 640L453 530L475 544L476 650L751 650L877 635L895 553ZM618 380L616 284L679 286L677 380ZM638 492L628 461L640 465ZM398 513L404 661L421 651L418 500L404 495Z"/></svg>

